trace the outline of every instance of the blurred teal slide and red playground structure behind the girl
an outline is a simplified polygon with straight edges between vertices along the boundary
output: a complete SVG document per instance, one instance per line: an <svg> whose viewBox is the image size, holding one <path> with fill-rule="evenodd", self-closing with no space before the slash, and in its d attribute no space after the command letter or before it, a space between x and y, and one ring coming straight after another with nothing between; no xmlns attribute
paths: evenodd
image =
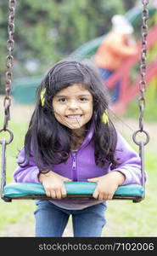
<svg viewBox="0 0 157 256"><path fill-rule="evenodd" d="M134 26L135 28L140 26L141 12L142 12L142 8L136 7L129 10L125 15L126 19L129 20L129 22L131 22L132 26ZM155 14L155 12L156 12L156 9L149 8L150 17L152 17ZM82 44L81 47L79 47L78 49L76 49L74 52L70 54L70 58L76 58L77 60L93 58L96 50L98 49L102 40L104 40L105 36L106 35L103 35L101 37L93 39L90 42L87 42L86 44ZM150 44L149 44L149 41L151 41ZM149 38L148 38L149 49L151 49L156 42L157 42L156 31L154 29L152 30L152 32L150 31L149 33ZM138 45L140 45L140 42L138 42ZM122 90L125 88L126 90L130 90L131 87L134 88L134 90L136 90L137 89L136 83L138 83L138 81L132 84L131 80L129 79L129 73L131 73L132 67L137 64L137 62L139 61L139 58L140 56L137 55L135 57L135 60L131 61L131 59L129 59L128 64L126 61L125 71L123 70L123 68L121 68L121 70L118 70L117 71L118 74L115 73L108 80L106 85L111 89L113 88L116 82L116 79L121 79ZM122 78L121 78L121 73L122 73ZM149 76L149 73L148 73L148 76ZM151 77L154 77L154 76L155 76L155 71L154 73L152 73ZM149 76L149 79L151 79L150 76ZM41 80L42 80L42 77L24 77L20 79L14 79L13 89L12 89L14 102L18 104L34 104L36 99L36 88L38 84L40 84ZM149 83L149 80L148 80L148 83ZM122 98L122 94L124 95L126 92L123 93L122 90L120 91L119 105L112 106L115 112L121 113L121 114L126 112L127 105L130 102L132 102L132 100L137 96L137 90L136 90L136 92L133 93L132 96L129 96L128 102L126 102L126 98L125 99Z"/></svg>

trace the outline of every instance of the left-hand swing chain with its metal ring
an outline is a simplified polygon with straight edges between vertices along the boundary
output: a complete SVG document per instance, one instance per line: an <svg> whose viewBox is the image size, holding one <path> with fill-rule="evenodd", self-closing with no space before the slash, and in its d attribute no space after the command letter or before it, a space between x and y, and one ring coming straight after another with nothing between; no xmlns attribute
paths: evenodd
<svg viewBox="0 0 157 256"><path fill-rule="evenodd" d="M13 80L12 68L14 64L14 57L12 55L14 51L14 14L15 14L15 5L16 0L8 0L8 56L6 61L7 71L5 79L5 97L3 100L4 107L4 122L3 128L0 129L0 132L7 131L9 133L9 139L6 141L6 144L12 142L14 135L8 127L8 121L10 120L10 106L11 106L11 85ZM3 140L0 140L0 143L3 144Z"/></svg>

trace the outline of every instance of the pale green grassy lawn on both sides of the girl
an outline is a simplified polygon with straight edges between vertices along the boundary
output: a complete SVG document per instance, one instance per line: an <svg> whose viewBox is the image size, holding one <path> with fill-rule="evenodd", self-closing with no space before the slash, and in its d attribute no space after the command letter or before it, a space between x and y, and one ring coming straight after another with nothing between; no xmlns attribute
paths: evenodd
<svg viewBox="0 0 157 256"><path fill-rule="evenodd" d="M20 111L23 114L22 109ZM14 142L7 147L7 183L13 182L16 155L23 145L27 126L25 116L21 121L14 114L14 121L12 119L9 125L14 131ZM103 236L157 236L155 143L154 147L146 148L145 163L149 175L145 200L140 203L109 201L106 212L107 224ZM20 200L7 203L0 200L0 208L0 236L34 236L33 212L36 208L34 201Z"/></svg>

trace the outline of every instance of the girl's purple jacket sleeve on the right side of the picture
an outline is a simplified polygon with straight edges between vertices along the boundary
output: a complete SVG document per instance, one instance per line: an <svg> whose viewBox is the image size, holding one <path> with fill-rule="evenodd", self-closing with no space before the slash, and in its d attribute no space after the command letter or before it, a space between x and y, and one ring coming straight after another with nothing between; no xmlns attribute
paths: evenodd
<svg viewBox="0 0 157 256"><path fill-rule="evenodd" d="M118 171L125 175L126 179L123 185L126 184L141 184L141 159L139 155L132 149L126 140L117 132L117 145L115 148L115 160L118 165L111 166L112 171ZM144 173L146 181L147 174Z"/></svg>

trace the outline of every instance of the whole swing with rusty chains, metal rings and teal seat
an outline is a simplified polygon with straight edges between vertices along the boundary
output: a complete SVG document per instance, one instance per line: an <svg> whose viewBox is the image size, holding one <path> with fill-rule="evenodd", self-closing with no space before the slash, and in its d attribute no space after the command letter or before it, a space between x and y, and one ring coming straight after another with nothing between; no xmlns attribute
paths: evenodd
<svg viewBox="0 0 157 256"><path fill-rule="evenodd" d="M141 46L141 62L140 62L140 75L141 80L139 82L139 129L132 135L133 142L139 147L139 156L141 158L141 184L121 185L116 189L113 199L118 200L132 200L133 202L140 202L145 197L144 186L144 146L149 143L149 133L143 129L143 112L145 108L144 93L146 91L146 57L147 57L147 35L148 26L147 20L149 18L148 4L149 0L142 0L142 46ZM51 200L48 198L42 184L39 183L8 183L6 184L6 148L9 143L12 143L14 139L13 131L8 129L8 121L10 120L10 106L11 106L11 85L13 81L12 68L14 65L14 15L15 15L16 0L8 0L8 56L7 56L7 72L5 83L5 97L3 101L4 106L4 121L1 132L8 133L8 140L0 139L2 144L2 177L1 177L1 198L3 201L10 202L17 199L42 199ZM144 135L144 141L137 141L137 135ZM73 200L87 200L93 199L93 192L97 186L97 183L89 182L70 182L64 183L67 192L66 199Z"/></svg>

